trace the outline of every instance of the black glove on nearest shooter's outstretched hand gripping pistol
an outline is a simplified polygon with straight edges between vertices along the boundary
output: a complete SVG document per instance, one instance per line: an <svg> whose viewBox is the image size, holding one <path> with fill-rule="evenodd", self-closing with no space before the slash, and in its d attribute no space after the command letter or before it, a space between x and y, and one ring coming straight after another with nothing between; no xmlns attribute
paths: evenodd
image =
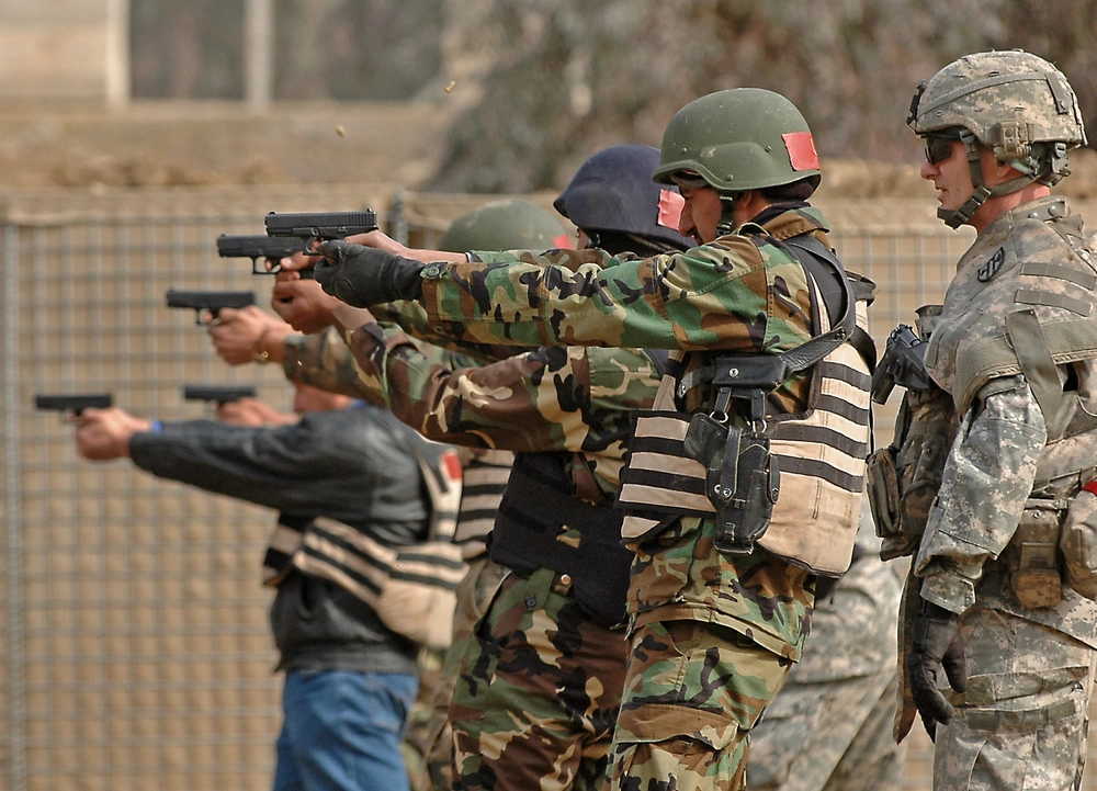
<svg viewBox="0 0 1097 791"><path fill-rule="evenodd" d="M422 264L384 250L337 239L319 245L316 282L351 307L422 296Z"/></svg>

